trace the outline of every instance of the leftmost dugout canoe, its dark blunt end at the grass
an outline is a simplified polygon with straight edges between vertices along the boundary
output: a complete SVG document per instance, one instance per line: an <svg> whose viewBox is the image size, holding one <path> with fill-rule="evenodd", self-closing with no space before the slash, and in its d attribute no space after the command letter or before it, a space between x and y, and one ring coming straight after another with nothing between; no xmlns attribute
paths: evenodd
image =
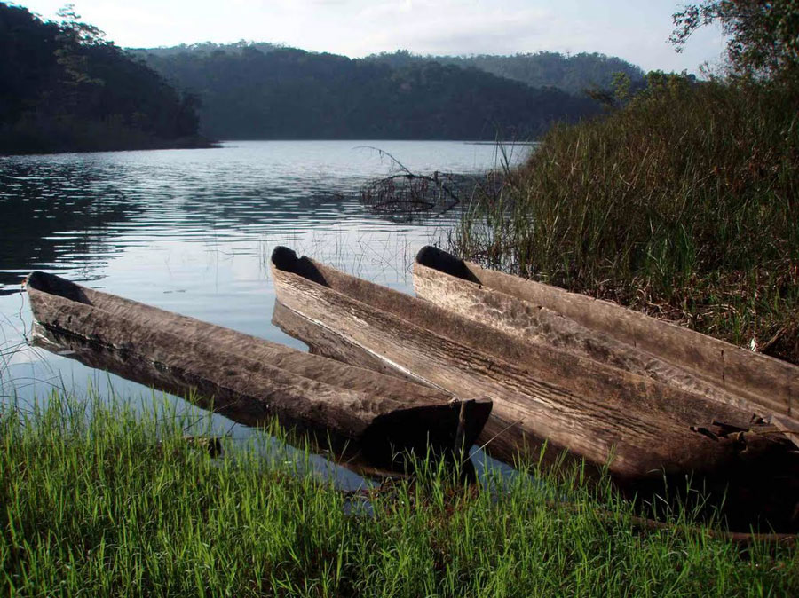
<svg viewBox="0 0 799 598"><path fill-rule="evenodd" d="M33 272L25 287L36 322L146 364L178 388L212 397L215 410L251 425L277 416L305 430L332 431L388 465L400 452L471 445L491 403L309 355L249 334ZM152 365L152 368L149 366ZM462 410L462 406L464 407ZM468 414L463 424L462 412Z"/></svg>

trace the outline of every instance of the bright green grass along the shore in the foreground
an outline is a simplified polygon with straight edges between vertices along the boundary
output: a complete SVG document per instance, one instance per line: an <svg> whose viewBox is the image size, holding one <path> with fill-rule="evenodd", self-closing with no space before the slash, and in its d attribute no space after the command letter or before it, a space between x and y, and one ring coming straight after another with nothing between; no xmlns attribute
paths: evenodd
<svg viewBox="0 0 799 598"><path fill-rule="evenodd" d="M27 414L6 408L2 594L799 591L795 548L742 551L689 533L684 513L674 530L640 531L628 505L583 491L577 469L543 485L515 476L475 489L428 461L415 481L383 484L357 508L358 497L305 468L307 449L289 460L254 442L211 459L182 439L185 424L163 407L142 416L96 397L54 395ZM573 500L558 506L565 493Z"/></svg>

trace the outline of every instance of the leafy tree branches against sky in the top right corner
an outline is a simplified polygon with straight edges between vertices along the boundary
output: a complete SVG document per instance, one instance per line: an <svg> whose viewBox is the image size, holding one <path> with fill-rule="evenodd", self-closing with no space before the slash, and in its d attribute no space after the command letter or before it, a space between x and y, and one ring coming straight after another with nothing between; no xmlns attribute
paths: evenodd
<svg viewBox="0 0 799 598"><path fill-rule="evenodd" d="M682 51L692 33L721 24L733 74L780 78L799 72L799 0L704 0L673 15L669 41Z"/></svg>

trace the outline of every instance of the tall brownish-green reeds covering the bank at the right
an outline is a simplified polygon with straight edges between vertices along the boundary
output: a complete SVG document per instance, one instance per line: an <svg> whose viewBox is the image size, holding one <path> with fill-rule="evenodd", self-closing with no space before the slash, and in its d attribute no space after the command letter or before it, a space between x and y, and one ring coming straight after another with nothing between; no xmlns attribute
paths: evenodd
<svg viewBox="0 0 799 598"><path fill-rule="evenodd" d="M455 252L799 363L799 90L651 75L550 131Z"/></svg>

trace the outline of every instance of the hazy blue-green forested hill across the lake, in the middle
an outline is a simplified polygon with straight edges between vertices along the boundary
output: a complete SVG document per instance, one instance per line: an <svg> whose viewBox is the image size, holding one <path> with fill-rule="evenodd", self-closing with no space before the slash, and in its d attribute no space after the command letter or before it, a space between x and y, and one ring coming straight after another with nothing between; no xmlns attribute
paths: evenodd
<svg viewBox="0 0 799 598"><path fill-rule="evenodd" d="M200 98L201 130L214 138L534 138L599 109L435 61L394 67L246 43L132 52Z"/></svg>

